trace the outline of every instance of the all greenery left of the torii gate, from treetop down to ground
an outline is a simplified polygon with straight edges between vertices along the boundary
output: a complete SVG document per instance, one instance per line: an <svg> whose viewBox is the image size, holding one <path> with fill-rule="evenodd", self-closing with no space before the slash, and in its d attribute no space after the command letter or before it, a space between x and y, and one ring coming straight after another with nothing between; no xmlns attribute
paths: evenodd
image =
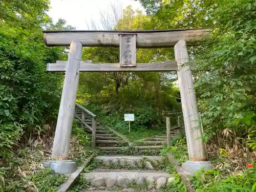
<svg viewBox="0 0 256 192"><path fill-rule="evenodd" d="M48 0L0 1L0 191L56 191L53 185L63 180L47 171L28 178L37 166L29 171L24 167L29 167L26 144L41 143L56 121L63 77L46 72L46 63L67 57L65 48L48 48L42 40L42 30L66 29L63 19L53 24L47 15L49 4ZM44 152L38 151L30 164L42 160Z"/></svg>

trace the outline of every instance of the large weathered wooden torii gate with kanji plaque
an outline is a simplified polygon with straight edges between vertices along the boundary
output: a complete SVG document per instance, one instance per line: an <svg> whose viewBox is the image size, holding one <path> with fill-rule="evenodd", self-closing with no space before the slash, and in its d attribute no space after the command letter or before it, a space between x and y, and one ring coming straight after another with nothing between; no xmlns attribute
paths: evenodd
<svg viewBox="0 0 256 192"><path fill-rule="evenodd" d="M189 161L183 168L191 173L207 168L207 152L202 140L199 111L189 66L186 45L208 35L208 29L174 29L150 31L44 31L47 46L70 46L68 61L48 63L47 71L66 71L54 136L52 158L68 160L72 121L78 88L79 71L178 71L182 112ZM173 47L176 61L136 63L136 48ZM82 47L120 47L119 63L81 61ZM199 139L200 138L200 139Z"/></svg>

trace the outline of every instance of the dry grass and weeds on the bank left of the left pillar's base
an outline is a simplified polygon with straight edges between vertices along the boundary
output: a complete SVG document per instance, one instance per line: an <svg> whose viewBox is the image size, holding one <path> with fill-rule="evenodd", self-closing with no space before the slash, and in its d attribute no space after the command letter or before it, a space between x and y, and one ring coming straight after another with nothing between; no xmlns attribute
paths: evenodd
<svg viewBox="0 0 256 192"><path fill-rule="evenodd" d="M12 153L10 162L1 162L8 172L0 184L0 191L56 191L67 178L42 166L42 162L50 159L52 142L52 137L33 140L33 144L20 147Z"/></svg>

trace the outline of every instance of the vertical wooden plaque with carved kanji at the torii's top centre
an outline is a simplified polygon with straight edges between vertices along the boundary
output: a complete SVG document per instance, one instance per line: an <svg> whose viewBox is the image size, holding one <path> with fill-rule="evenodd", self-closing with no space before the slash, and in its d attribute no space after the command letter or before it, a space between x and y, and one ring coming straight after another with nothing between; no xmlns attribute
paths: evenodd
<svg viewBox="0 0 256 192"><path fill-rule="evenodd" d="M120 66L136 67L136 35L119 35Z"/></svg>

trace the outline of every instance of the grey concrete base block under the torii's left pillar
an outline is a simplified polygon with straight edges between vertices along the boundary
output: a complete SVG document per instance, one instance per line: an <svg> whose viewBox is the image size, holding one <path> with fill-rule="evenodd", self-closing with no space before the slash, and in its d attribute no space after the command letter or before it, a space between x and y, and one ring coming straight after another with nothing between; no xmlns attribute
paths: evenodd
<svg viewBox="0 0 256 192"><path fill-rule="evenodd" d="M76 162L72 160L56 160L43 163L45 168L51 168L56 174L72 174L76 170Z"/></svg>

